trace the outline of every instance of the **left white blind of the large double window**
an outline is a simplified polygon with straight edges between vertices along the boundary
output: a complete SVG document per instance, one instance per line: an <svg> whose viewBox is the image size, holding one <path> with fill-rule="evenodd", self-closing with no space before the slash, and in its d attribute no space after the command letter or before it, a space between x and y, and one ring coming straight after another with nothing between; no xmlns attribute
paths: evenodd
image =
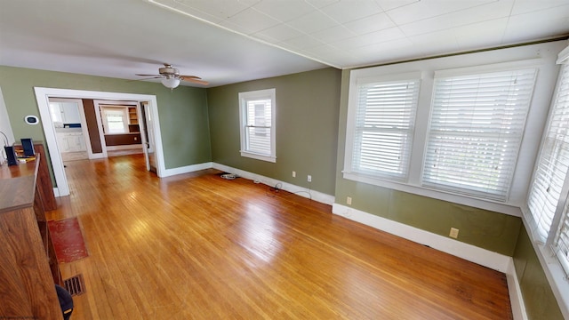
<svg viewBox="0 0 569 320"><path fill-rule="evenodd" d="M358 85L353 172L407 179L419 86L419 79Z"/></svg>

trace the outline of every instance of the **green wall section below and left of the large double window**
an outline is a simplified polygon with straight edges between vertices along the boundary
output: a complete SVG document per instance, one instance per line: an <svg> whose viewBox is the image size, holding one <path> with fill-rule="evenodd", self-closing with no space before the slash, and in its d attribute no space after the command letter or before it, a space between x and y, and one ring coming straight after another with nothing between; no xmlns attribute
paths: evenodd
<svg viewBox="0 0 569 320"><path fill-rule="evenodd" d="M350 196L351 207L357 210L440 236L448 236L451 227L458 228L458 241L511 256L516 249L517 234L522 224L517 217L343 179L341 170L346 144L348 86L349 70L344 70L334 192L336 203L347 205L345 199Z"/></svg>

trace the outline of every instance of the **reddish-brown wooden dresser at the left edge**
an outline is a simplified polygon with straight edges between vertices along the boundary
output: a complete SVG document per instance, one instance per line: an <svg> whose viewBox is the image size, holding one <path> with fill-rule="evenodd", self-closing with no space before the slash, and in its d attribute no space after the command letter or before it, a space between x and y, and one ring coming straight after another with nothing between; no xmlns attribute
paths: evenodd
<svg viewBox="0 0 569 320"><path fill-rule="evenodd" d="M60 271L41 194L51 180L40 186L38 179L42 156L0 166L0 319L62 317L54 285Z"/></svg>

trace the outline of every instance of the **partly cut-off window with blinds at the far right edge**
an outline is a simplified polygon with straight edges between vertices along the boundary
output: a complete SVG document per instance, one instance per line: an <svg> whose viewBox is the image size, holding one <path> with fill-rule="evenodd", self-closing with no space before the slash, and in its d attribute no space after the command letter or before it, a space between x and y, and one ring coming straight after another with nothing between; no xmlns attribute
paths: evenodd
<svg viewBox="0 0 569 320"><path fill-rule="evenodd" d="M541 144L527 204L533 236L553 244L565 272L569 273L569 67L565 65Z"/></svg>

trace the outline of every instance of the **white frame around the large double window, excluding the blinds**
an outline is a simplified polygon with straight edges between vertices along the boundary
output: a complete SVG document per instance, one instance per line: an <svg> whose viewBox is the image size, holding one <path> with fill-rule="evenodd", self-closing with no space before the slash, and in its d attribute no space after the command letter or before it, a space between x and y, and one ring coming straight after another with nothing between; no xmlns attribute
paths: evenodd
<svg viewBox="0 0 569 320"><path fill-rule="evenodd" d="M466 74L493 72L500 69L512 68L538 68L538 72L540 72L539 70L543 67L544 60L538 58L498 63L488 63L486 61L486 64L484 63L484 60L478 60L479 64L476 65L477 59L473 59L468 60L468 63L470 63L469 67L463 67L464 61L467 61L464 60L464 58L461 58L461 60L449 58L447 60L453 61L451 63L444 63L443 60L437 60L435 62L431 60L413 61L398 65L361 68L349 71L348 114L345 132L346 144L344 149L344 164L342 167L343 178L519 217L521 216L520 207L522 207L525 202L525 194L533 168L533 158L531 158L531 156L535 155L535 152L537 152L540 143L539 135L542 130L541 125L547 116L547 110L530 107L528 121L525 125L526 130L524 132L520 154L517 159L516 171L514 172L512 188L507 201L499 201L481 196L465 195L461 192L455 192L454 190L429 188L422 185L421 177L423 159L427 146L426 138L429 130L430 103L432 100L432 89L434 86L434 74L436 71L443 72L444 70ZM447 69L441 67L446 67ZM360 81L360 79L373 76L389 79L389 77L393 78L397 75L417 72L421 73L421 90L419 93L419 106L415 121L411 167L408 179L406 181L387 180L376 176L353 172L350 168L350 157L354 151L352 136L355 130L354 117L356 116L355 113L357 110L357 82ZM537 87L538 84L536 84L534 91L538 89ZM541 103L544 99L543 92L545 90L545 86L541 85L539 89L541 90L539 94L533 94L532 105L535 102L535 99L538 99ZM538 98L535 98L536 96Z"/></svg>

